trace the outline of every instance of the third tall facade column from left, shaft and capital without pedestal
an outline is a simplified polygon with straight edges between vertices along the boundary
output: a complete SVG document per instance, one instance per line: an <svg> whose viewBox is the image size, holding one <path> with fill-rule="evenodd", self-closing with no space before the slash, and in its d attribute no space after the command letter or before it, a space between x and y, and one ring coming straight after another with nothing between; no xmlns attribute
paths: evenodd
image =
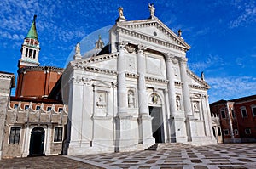
<svg viewBox="0 0 256 169"><path fill-rule="evenodd" d="M176 93L174 85L174 72L172 69L172 54L166 54L166 74L168 82L168 95L169 95L169 104L170 104L170 115L177 115L176 107Z"/></svg>

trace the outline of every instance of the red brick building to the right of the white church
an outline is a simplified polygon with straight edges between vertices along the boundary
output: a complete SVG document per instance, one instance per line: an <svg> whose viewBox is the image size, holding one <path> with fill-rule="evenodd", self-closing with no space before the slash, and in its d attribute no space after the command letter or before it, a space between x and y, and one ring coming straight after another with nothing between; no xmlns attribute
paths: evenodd
<svg viewBox="0 0 256 169"><path fill-rule="evenodd" d="M256 142L256 95L219 100L210 109L212 121L219 117L224 143Z"/></svg>

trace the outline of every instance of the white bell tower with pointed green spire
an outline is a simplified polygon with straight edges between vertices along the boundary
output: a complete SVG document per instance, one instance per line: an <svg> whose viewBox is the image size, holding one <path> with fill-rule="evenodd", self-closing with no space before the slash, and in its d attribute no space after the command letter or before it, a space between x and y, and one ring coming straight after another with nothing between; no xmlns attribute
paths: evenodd
<svg viewBox="0 0 256 169"><path fill-rule="evenodd" d="M24 42L21 45L21 58L18 63L18 67L22 68L24 66L38 66L38 55L40 51L39 41L38 41L38 32L36 28L36 18L37 15L34 15L32 25L28 31Z"/></svg>

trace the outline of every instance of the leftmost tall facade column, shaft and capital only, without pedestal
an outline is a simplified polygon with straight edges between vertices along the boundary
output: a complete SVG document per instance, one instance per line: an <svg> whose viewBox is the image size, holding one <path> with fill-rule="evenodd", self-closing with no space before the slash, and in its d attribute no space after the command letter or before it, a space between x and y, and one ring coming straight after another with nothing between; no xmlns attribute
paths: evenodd
<svg viewBox="0 0 256 169"><path fill-rule="evenodd" d="M118 43L118 115L127 114L127 91L126 91L126 80L125 80L125 42Z"/></svg>

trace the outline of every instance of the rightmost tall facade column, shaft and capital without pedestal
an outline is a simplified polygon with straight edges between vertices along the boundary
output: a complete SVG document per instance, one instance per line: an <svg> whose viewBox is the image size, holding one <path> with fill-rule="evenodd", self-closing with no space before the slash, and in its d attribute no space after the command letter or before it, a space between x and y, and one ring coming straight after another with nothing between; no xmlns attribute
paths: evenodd
<svg viewBox="0 0 256 169"><path fill-rule="evenodd" d="M188 82L188 75L187 75L187 58L180 58L180 75L181 81L183 82L183 104L186 116L192 116L192 109L191 109L191 101L190 101L190 94L189 94L189 82Z"/></svg>

